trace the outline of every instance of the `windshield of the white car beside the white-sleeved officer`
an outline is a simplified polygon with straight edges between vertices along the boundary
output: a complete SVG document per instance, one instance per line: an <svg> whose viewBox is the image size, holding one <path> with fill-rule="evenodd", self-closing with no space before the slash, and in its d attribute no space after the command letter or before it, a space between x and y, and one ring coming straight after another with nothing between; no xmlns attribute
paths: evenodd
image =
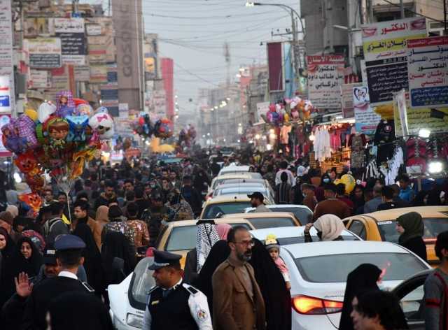
<svg viewBox="0 0 448 330"><path fill-rule="evenodd" d="M134 301L146 304L148 299L148 290L155 285L153 271L148 270L148 266L153 264L153 257L141 259L135 266L134 277L132 280L132 298Z"/></svg>

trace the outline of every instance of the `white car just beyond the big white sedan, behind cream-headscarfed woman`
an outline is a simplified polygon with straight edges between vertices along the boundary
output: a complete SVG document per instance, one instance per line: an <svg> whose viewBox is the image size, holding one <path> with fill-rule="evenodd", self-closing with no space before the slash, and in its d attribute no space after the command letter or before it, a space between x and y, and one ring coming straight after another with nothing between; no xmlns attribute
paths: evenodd
<svg viewBox="0 0 448 330"><path fill-rule="evenodd" d="M254 238L260 240L263 244L265 243L266 236L269 234L274 234L279 245L290 245L295 243L304 243L304 226L300 227L276 227L276 228L265 228L265 229L254 229L251 230L251 235ZM318 241L317 231L314 227L309 229L309 234L313 241ZM359 236L356 236L351 231L343 230L341 233L344 241L362 241Z"/></svg>

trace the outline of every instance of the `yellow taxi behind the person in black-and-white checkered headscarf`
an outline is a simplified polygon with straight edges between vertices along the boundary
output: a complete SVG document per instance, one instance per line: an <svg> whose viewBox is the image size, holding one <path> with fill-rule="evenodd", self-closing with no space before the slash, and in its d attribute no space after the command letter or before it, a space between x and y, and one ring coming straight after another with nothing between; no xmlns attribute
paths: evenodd
<svg viewBox="0 0 448 330"><path fill-rule="evenodd" d="M196 223L198 220L181 220L167 222L160 229L158 240L155 242L157 250L181 254L181 266L185 265L188 251L196 247ZM255 229L251 222L244 219L216 219L216 224L230 224L230 226L244 226L249 230Z"/></svg>

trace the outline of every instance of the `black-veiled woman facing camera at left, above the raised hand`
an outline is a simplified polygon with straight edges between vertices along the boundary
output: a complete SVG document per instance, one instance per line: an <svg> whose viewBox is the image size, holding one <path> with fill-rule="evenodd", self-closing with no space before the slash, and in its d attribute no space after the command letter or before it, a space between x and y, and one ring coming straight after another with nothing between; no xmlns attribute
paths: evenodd
<svg viewBox="0 0 448 330"><path fill-rule="evenodd" d="M14 278L25 272L33 282L43 264L38 248L29 237L22 237L15 246L12 257L2 265L0 284L0 306L13 295L15 291Z"/></svg>

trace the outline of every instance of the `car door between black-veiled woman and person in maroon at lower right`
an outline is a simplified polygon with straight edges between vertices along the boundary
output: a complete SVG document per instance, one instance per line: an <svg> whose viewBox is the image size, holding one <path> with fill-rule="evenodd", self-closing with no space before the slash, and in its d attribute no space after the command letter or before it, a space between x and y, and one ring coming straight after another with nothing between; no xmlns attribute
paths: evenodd
<svg viewBox="0 0 448 330"><path fill-rule="evenodd" d="M423 284L428 273L416 275L414 278L402 282L393 290L400 299L400 306L405 313L407 325L412 330L424 330L425 320L423 310Z"/></svg>

